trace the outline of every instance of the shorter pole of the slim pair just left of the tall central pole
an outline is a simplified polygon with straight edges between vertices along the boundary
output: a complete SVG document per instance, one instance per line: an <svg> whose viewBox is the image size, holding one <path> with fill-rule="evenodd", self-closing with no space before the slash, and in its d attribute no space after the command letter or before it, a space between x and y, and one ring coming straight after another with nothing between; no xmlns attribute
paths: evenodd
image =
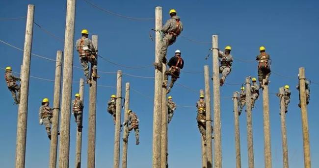
<svg viewBox="0 0 319 168"><path fill-rule="evenodd" d="M130 83L125 84L125 104L124 104L124 121L129 117L128 111L130 110ZM128 130L128 125L124 125L124 133ZM129 142L129 141L128 141ZM127 156L128 156L128 143L123 142L123 154L122 154L122 168L127 168Z"/></svg>

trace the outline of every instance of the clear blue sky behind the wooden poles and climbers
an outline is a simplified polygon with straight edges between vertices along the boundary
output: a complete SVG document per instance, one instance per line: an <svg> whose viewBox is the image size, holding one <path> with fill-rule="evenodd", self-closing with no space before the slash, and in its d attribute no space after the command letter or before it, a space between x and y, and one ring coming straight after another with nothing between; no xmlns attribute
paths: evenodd
<svg viewBox="0 0 319 168"><path fill-rule="evenodd" d="M169 18L168 11L175 8L184 23L183 36L187 38L211 42L212 35L218 34L219 47L232 46L232 55L243 60L254 60L261 45L272 58L269 93L277 93L279 87L289 84L292 88L292 99L287 114L287 136L289 163L291 168L303 167L303 144L301 115L298 104L297 73L299 67L306 68L306 77L319 82L318 53L319 46L319 2L315 0L268 0L268 1L143 1L143 0L93 0L97 5L113 12L137 18L153 18L155 6L163 8L163 22ZM35 5L35 22L64 39L65 0L2 0L0 18L26 16L27 4ZM24 46L25 19L0 21L0 40L19 48ZM86 28L90 35L99 35L99 54L116 63L128 66L145 66L154 62L154 42L149 38L149 31L154 28L154 21L133 21L109 15L93 8L83 0L77 1L75 39L80 37L80 30ZM198 44L179 37L169 47L167 57L174 50L182 50L185 59L185 71L201 72L204 65L212 70L212 58L205 60L210 44ZM0 67L12 66L20 72L22 52L4 44L0 44L2 59ZM55 59L56 50L63 50L63 43L55 40L39 27L34 25L32 53ZM78 54L74 52L74 65L80 66ZM99 70L154 76L154 69L126 69L99 60ZM248 75L257 75L256 62L245 63L235 60L233 70L227 77L228 83L242 83ZM33 76L54 78L55 63L35 56L31 57ZM3 72L4 73L4 72ZM100 74L100 85L116 86L115 74ZM73 71L73 80L84 77L78 69ZM140 118L140 144L134 144L131 133L128 149L129 168L151 168L152 165L152 133L153 133L153 95L154 80L123 76L123 86L130 82L131 87L147 96L131 91L130 107ZM181 74L178 82L195 90L187 90L176 84L171 96L179 105L195 106L199 90L204 88L203 74ZM48 167L50 142L45 128L39 125L38 108L43 97L53 100L53 82L30 78L28 123L27 123L27 168ZM211 83L212 86L212 83ZM221 88L221 96L232 96L239 90L239 85L225 85ZM79 84L74 83L72 97L78 92ZM0 165L13 168L15 162L15 143L17 125L17 106L4 80L0 82ZM106 112L106 101L116 91L114 88L98 87L97 94L97 127L96 127L96 168L110 168L113 164L114 125L111 116ZM124 93L124 92L123 92ZM212 93L213 94L213 93ZM311 85L311 100L308 105L309 134L313 168L319 167L319 85ZM123 94L124 96L124 94ZM279 98L269 95L271 152L273 168L282 167L282 145L279 117ZM255 166L264 166L264 136L262 97L256 102L253 110L253 140ZM82 141L82 165L87 161L87 113L88 86L85 85ZM230 98L221 99L222 128L222 164L224 168L235 167L235 138L233 102ZM123 120L123 119L122 119ZM71 116L70 167L75 164L76 123ZM246 115L240 116L241 163L247 168L247 130ZM122 145L122 144L121 144ZM170 168L200 168L201 148L200 134L196 124L196 109L178 107L172 122L169 124L169 165Z"/></svg>

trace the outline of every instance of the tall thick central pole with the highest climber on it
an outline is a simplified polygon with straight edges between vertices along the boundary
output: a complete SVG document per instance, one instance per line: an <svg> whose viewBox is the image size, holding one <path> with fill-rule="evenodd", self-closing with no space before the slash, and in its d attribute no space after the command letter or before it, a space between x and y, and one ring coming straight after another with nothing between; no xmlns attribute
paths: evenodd
<svg viewBox="0 0 319 168"><path fill-rule="evenodd" d="M162 8L155 8L155 62L160 62L160 30L162 27ZM161 112L162 112L162 72L155 70L154 82L154 112L153 112L153 168L160 168L161 147Z"/></svg>

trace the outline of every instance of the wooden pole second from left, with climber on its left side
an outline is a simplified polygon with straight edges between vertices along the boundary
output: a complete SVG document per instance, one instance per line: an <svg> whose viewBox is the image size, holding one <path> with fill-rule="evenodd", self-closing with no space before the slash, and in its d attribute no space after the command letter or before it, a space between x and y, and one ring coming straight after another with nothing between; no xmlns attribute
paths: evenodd
<svg viewBox="0 0 319 168"><path fill-rule="evenodd" d="M53 95L53 118L50 144L49 168L56 168L57 139L59 132L60 116L60 95L61 95L61 72L62 72L62 51L56 52L54 95Z"/></svg>

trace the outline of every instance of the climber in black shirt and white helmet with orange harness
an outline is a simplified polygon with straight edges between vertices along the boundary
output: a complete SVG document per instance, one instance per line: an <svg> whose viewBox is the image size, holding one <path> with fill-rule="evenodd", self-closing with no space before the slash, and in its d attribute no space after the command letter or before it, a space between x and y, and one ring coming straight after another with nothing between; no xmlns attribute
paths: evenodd
<svg viewBox="0 0 319 168"><path fill-rule="evenodd" d="M171 82L166 90L166 94L173 88L174 83L180 77L181 69L184 68L184 60L180 50L177 49L175 51L175 56L168 61L167 65L169 66L169 69L164 72L163 87L167 87L168 75L171 76Z"/></svg>

